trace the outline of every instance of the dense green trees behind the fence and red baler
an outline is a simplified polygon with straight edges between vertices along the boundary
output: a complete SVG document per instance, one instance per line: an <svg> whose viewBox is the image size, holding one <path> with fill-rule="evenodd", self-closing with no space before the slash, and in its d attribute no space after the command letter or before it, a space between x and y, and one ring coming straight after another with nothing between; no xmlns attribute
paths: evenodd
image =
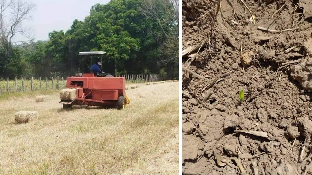
<svg viewBox="0 0 312 175"><path fill-rule="evenodd" d="M0 77L66 77L88 72L90 58L78 53L105 51L105 72L178 78L177 4L178 0L111 0L91 7L90 15L73 21L69 30L50 32L48 41L14 46L11 38L3 37Z"/></svg>

